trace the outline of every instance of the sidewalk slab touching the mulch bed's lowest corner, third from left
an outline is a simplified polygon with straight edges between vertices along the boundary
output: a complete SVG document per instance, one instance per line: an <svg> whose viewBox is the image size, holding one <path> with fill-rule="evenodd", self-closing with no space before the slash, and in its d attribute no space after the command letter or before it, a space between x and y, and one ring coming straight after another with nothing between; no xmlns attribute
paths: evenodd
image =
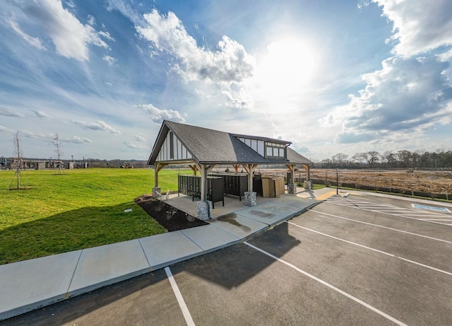
<svg viewBox="0 0 452 326"><path fill-rule="evenodd" d="M160 269L176 262L201 255L203 250L181 231L152 235L139 239L150 264L150 269Z"/></svg>

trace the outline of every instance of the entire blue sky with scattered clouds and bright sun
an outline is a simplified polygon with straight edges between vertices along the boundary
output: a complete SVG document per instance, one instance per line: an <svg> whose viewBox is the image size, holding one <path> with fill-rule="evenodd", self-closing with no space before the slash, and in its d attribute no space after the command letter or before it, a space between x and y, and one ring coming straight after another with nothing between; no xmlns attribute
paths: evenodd
<svg viewBox="0 0 452 326"><path fill-rule="evenodd" d="M451 30L451 0L4 0L0 156L145 160L163 120L451 150Z"/></svg>

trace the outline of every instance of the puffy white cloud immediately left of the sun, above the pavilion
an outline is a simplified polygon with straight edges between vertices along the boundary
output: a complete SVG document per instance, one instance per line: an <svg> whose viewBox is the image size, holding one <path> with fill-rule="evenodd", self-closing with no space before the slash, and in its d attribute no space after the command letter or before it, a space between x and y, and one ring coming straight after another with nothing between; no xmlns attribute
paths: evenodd
<svg viewBox="0 0 452 326"><path fill-rule="evenodd" d="M170 62L172 69L184 82L213 83L209 93L220 95L219 103L235 108L253 107L247 83L254 77L256 59L243 45L223 36L214 51L207 50L197 45L171 11L164 15L154 9L143 17L145 21L137 23L136 30L153 45L151 56L159 52L169 54L174 58ZM208 85L198 87L209 88Z"/></svg>

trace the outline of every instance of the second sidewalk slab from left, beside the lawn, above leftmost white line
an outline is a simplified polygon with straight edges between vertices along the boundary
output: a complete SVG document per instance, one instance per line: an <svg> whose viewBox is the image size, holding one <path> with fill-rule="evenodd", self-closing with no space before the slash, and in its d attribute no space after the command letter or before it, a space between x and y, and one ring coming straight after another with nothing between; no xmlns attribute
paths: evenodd
<svg viewBox="0 0 452 326"><path fill-rule="evenodd" d="M149 272L148 260L138 240L82 250L73 274L69 296Z"/></svg>

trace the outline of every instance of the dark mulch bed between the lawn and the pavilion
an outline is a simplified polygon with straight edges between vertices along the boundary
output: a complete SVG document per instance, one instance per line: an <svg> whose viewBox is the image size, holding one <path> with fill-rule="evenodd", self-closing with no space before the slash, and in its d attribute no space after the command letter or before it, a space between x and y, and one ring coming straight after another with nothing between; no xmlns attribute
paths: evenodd
<svg viewBox="0 0 452 326"><path fill-rule="evenodd" d="M143 195L134 200L149 216L169 232L208 225L205 221L186 214L184 211L179 211L179 209L167 204L167 202L161 202L152 196Z"/></svg>

